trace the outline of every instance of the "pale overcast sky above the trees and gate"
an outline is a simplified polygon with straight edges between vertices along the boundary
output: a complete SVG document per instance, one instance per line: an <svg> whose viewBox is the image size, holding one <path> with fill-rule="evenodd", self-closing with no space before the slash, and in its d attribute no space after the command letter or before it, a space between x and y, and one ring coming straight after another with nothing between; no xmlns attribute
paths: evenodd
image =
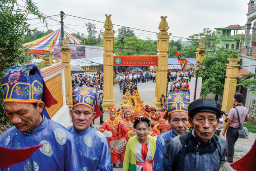
<svg viewBox="0 0 256 171"><path fill-rule="evenodd" d="M188 37L202 32L203 28L225 28L231 24L245 25L247 21L247 3L249 0L34 0L38 9L47 16L70 14L78 17L89 18L104 22L105 14L112 14L112 23L130 28L138 28L151 32L134 30L135 35L141 39L150 37L156 40L152 32L159 32L160 16L168 16L168 32L172 36ZM23 5L21 0L18 2ZM35 18L32 15L29 18ZM60 21L60 16L52 17ZM66 16L64 24L85 26L85 23L95 23L97 31L103 29L103 23L89 21L81 18ZM47 30L37 19L30 20L30 24L36 24L31 28ZM39 23L39 24L37 24ZM49 20L48 25L58 24ZM66 25L72 28L72 32L87 34L86 27ZM57 30L61 25L49 26L49 29ZM117 31L118 26L114 26ZM72 33L65 28L65 31ZM75 30L75 31L74 31ZM117 33L116 33L117 34ZM171 37L170 39L177 40Z"/></svg>

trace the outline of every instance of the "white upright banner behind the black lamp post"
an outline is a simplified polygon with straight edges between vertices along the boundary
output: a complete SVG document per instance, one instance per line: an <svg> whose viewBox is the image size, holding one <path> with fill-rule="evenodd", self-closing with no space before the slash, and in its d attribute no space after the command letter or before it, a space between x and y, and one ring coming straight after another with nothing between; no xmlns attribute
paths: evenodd
<svg viewBox="0 0 256 171"><path fill-rule="evenodd" d="M202 88L202 77L197 78L197 85L196 85L196 94L195 94L195 79L196 77L191 77L191 83L190 83L190 102L200 98L201 88Z"/></svg>

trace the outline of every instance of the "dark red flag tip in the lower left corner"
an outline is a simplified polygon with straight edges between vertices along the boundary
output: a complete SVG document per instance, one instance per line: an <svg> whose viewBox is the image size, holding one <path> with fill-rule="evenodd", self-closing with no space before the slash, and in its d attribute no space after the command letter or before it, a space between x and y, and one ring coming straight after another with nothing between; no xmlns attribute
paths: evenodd
<svg viewBox="0 0 256 171"><path fill-rule="evenodd" d="M0 168L5 168L15 163L23 162L44 144L22 149L10 149L0 146Z"/></svg>

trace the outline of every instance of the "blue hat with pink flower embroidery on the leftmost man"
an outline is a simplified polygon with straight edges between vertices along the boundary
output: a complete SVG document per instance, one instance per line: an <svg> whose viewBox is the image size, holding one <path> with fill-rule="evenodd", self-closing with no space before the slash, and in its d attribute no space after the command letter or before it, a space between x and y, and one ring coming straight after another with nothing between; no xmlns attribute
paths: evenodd
<svg viewBox="0 0 256 171"><path fill-rule="evenodd" d="M57 104L56 99L48 90L40 70L33 64L9 67L3 75L2 89L5 103L37 103L43 101L46 107Z"/></svg>

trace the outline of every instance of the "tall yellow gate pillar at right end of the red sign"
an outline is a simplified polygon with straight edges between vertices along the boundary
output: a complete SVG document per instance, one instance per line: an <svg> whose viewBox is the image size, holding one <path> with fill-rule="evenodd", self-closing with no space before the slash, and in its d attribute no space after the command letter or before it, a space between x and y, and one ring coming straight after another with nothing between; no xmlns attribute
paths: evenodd
<svg viewBox="0 0 256 171"><path fill-rule="evenodd" d="M172 33L168 33L168 23L166 21L167 17L162 18L158 29L160 32L156 33L158 43L157 43L157 51L158 51L158 66L156 69L156 86L155 86L155 97L154 97L154 107L158 110L161 108L160 97L163 94L166 96L166 85L167 85L167 72L168 72L168 50L169 50L169 36Z"/></svg>

